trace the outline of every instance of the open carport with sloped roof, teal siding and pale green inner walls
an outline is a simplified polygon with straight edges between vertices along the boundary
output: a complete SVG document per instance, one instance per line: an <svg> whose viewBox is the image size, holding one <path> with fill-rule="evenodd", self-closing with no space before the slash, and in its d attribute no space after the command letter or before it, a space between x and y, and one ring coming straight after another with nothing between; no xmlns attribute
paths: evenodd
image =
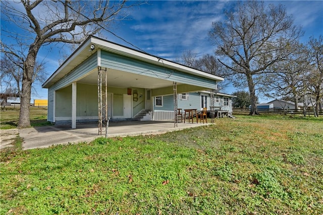
<svg viewBox="0 0 323 215"><path fill-rule="evenodd" d="M47 120L76 128L76 123L129 120L142 113L153 120L160 97L217 89L217 82L223 80L91 36L42 87L48 89Z"/></svg>

